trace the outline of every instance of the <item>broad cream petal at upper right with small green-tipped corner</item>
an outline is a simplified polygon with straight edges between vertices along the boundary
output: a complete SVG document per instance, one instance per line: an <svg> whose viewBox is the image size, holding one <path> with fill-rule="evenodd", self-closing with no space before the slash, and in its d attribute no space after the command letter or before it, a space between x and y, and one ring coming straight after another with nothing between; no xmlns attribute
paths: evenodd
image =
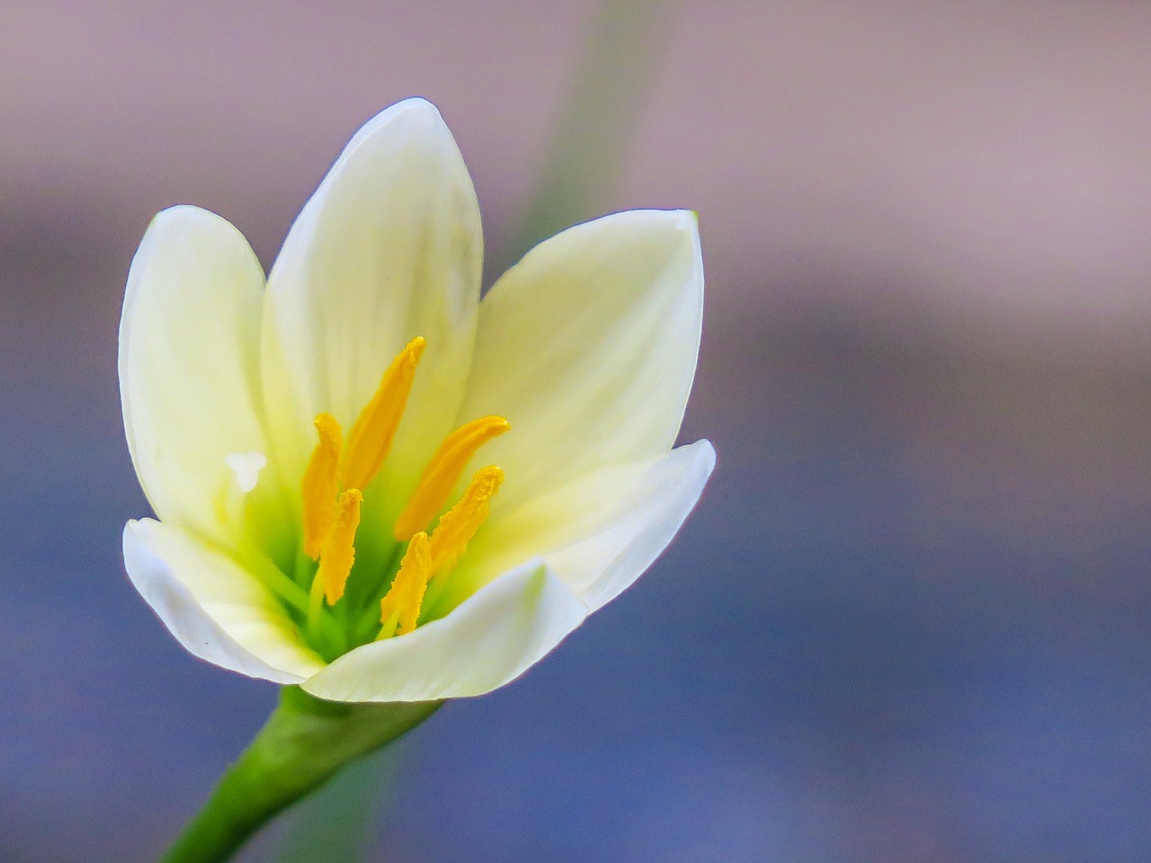
<svg viewBox="0 0 1151 863"><path fill-rule="evenodd" d="M506 417L481 450L521 503L665 452L695 375L703 268L695 216L634 211L546 240L480 307L463 418Z"/></svg>

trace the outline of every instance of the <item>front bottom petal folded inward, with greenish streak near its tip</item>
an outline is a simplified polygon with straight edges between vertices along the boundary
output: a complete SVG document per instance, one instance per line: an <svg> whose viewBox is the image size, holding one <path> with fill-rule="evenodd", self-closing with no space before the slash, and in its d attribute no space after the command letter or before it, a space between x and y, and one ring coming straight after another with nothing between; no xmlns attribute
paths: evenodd
<svg viewBox="0 0 1151 863"><path fill-rule="evenodd" d="M539 562L496 579L450 614L352 650L305 681L330 701L432 701L482 695L538 663L587 616Z"/></svg>

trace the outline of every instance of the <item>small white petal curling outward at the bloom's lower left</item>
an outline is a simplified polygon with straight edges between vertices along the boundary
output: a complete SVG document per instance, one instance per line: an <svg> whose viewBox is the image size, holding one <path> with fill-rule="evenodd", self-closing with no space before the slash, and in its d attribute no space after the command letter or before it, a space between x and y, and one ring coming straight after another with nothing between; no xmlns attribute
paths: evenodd
<svg viewBox="0 0 1151 863"><path fill-rule="evenodd" d="M151 519L129 521L124 566L193 656L276 683L298 683L323 666L254 575L186 532Z"/></svg>

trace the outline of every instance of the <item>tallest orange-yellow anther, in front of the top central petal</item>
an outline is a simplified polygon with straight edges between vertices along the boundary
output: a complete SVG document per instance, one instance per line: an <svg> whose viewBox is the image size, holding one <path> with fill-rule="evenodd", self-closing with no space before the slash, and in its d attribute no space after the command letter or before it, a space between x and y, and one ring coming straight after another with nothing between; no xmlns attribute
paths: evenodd
<svg viewBox="0 0 1151 863"><path fill-rule="evenodd" d="M383 373L380 389L352 425L341 471L344 488L366 488L383 467L426 345L421 336L407 343Z"/></svg>

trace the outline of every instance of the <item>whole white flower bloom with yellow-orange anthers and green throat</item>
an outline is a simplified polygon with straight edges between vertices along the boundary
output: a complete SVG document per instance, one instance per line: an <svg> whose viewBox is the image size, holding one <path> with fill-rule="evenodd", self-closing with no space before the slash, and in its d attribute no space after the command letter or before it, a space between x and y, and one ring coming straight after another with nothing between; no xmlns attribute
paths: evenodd
<svg viewBox="0 0 1151 863"><path fill-rule="evenodd" d="M479 695L663 551L715 463L672 449L699 351L696 222L542 243L480 299L479 207L439 112L369 121L265 278L189 206L132 260L124 428L159 520L132 583L192 654L335 701Z"/></svg>

